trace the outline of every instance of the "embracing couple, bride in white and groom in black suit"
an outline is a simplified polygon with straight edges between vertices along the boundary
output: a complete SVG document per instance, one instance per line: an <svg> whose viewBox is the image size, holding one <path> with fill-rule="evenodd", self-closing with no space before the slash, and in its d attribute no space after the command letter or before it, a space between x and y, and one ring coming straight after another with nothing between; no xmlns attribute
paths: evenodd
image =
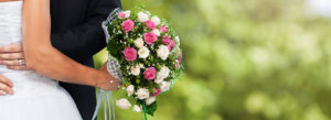
<svg viewBox="0 0 331 120"><path fill-rule="evenodd" d="M0 120L90 120L95 87L120 86L92 59L116 8L119 0L0 0Z"/></svg>

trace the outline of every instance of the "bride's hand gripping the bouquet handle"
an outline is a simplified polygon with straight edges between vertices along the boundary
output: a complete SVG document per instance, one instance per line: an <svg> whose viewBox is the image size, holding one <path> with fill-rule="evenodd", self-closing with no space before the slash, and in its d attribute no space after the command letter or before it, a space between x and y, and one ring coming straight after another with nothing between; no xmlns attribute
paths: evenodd
<svg viewBox="0 0 331 120"><path fill-rule="evenodd" d="M121 81L108 73L107 63L99 68L99 73L96 87L103 90L117 90L121 86Z"/></svg>

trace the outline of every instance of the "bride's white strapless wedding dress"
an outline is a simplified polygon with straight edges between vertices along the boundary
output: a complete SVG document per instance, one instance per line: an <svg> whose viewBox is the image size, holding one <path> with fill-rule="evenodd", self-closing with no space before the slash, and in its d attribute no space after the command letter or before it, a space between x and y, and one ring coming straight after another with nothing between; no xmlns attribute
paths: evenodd
<svg viewBox="0 0 331 120"><path fill-rule="evenodd" d="M0 2L0 46L20 43L23 1ZM13 83L13 96L0 96L0 120L82 120L75 102L58 83L31 70L0 66Z"/></svg>

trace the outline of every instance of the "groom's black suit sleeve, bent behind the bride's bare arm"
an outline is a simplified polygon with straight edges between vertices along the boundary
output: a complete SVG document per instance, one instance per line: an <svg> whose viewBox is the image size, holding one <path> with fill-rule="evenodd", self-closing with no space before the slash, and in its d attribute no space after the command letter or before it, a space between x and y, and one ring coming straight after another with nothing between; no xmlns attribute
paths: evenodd
<svg viewBox="0 0 331 120"><path fill-rule="evenodd" d="M120 0L89 0L86 22L66 31L52 33L52 45L74 59L87 59L106 46L102 22Z"/></svg>

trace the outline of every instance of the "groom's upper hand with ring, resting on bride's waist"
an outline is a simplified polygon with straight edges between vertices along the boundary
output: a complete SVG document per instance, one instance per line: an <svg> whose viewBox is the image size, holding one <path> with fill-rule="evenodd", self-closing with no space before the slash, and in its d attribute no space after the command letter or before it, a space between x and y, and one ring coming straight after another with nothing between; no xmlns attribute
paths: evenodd
<svg viewBox="0 0 331 120"><path fill-rule="evenodd" d="M0 65L9 69L26 70L22 44L0 46Z"/></svg>

